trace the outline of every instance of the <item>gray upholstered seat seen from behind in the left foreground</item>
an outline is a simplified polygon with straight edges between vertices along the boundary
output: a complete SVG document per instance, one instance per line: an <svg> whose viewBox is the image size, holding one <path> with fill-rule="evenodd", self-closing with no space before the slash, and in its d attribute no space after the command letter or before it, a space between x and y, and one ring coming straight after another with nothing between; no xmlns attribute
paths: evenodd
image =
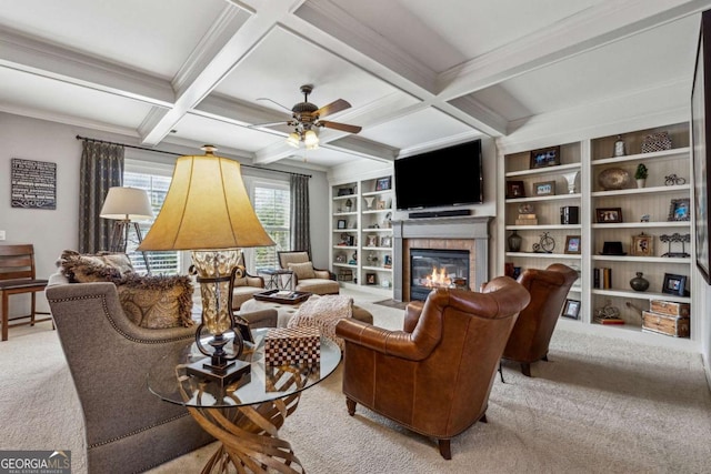
<svg viewBox="0 0 711 474"><path fill-rule="evenodd" d="M84 414L90 473L143 472L213 441L146 382L151 364L188 344L196 326L139 327L110 282L69 283L58 273L46 294Z"/></svg>

